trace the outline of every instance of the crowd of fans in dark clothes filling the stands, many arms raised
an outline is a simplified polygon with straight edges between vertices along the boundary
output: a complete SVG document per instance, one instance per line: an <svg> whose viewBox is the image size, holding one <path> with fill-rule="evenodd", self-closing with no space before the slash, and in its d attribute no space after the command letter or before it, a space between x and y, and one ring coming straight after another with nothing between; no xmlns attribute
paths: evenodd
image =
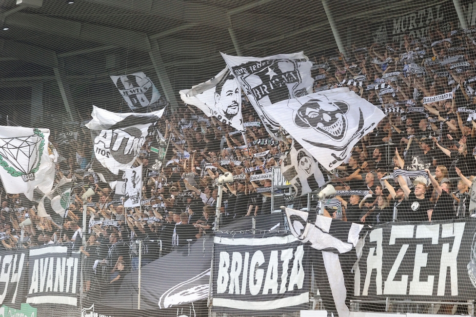
<svg viewBox="0 0 476 317"><path fill-rule="evenodd" d="M352 151L352 157L325 175L342 206L328 209L332 217L376 225L388 221L431 221L470 217L469 188L476 175L476 29L448 34L431 28L426 39L405 37L402 43L355 47L345 57L314 58L314 91L346 86L380 107L387 116ZM446 95L445 95L446 94ZM449 94L449 95L448 95ZM445 95L434 102L424 98ZM450 97L448 97L450 96ZM425 102L425 103L423 103ZM67 217L62 223L38 217L35 202L20 195L1 197L1 247L71 244L86 258L87 292L101 272L117 285L124 273L190 241L213 235L218 189L215 179L231 172L222 198L220 226L243 217L271 212L271 179L250 176L279 166L291 146L271 138L246 96L242 96L245 134L183 105L167 110L156 123L170 138L162 168L153 171L147 138L135 166L143 164L142 206L126 209L120 195L88 171L94 156L89 131L78 124L69 133L52 131L59 153L57 178L75 179ZM245 144L245 140L247 144ZM403 170L399 175L394 170ZM410 172L418 172L412 174ZM415 175L417 175L415 177ZM92 189L95 195L81 199ZM351 195L352 194L352 195ZM82 232L87 203L88 232ZM306 207L307 198L290 200ZM20 223L29 218L32 225ZM112 220L103 222L103 220ZM82 236L87 243L82 245Z"/></svg>

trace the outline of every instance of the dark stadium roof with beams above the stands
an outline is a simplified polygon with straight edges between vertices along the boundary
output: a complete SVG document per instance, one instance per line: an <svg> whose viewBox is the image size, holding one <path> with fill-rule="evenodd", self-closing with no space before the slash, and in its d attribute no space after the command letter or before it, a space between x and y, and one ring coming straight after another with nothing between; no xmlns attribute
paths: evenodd
<svg viewBox="0 0 476 317"><path fill-rule="evenodd" d="M83 118L93 104L126 111L109 76L138 71L178 105L180 89L224 68L219 52L329 56L365 45L377 22L418 10L416 19L431 20L425 6L435 20L441 8L445 22L458 23L454 2L0 0L0 123L9 115L19 125L47 126Z"/></svg>

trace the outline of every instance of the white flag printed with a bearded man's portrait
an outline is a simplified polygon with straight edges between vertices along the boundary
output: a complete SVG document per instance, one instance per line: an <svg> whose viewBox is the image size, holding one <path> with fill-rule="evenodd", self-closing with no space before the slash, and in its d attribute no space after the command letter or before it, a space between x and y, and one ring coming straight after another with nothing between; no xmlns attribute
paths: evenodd
<svg viewBox="0 0 476 317"><path fill-rule="evenodd" d="M180 90L180 98L198 107L208 117L215 117L239 131L243 131L241 117L241 87L228 67L214 78L192 89Z"/></svg>

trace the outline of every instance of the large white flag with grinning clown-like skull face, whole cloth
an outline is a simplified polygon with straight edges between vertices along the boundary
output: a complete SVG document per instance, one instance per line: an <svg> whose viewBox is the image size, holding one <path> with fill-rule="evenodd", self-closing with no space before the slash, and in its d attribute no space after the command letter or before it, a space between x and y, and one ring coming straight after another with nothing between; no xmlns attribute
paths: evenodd
<svg viewBox="0 0 476 317"><path fill-rule="evenodd" d="M385 117L347 87L281 101L266 111L329 171Z"/></svg>

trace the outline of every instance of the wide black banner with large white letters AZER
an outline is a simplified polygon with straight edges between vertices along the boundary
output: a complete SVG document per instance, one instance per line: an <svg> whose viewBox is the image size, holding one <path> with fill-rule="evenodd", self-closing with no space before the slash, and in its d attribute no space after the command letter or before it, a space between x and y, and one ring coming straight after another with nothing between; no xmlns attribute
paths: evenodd
<svg viewBox="0 0 476 317"><path fill-rule="evenodd" d="M373 227L354 266L354 298L474 299L475 228L475 218Z"/></svg>

